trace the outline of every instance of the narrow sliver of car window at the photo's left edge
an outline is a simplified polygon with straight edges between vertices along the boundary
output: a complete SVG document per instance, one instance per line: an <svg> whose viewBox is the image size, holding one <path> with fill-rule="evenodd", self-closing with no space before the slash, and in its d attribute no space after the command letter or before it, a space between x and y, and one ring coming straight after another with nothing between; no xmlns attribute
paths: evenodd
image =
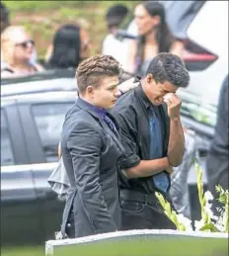
<svg viewBox="0 0 229 256"><path fill-rule="evenodd" d="M1 166L14 165L14 154L6 113L1 110Z"/></svg>

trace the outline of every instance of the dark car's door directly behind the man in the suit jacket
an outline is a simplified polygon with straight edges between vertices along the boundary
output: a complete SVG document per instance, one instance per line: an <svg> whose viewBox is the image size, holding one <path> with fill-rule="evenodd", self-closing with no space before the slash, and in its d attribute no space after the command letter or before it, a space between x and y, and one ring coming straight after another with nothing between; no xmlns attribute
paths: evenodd
<svg viewBox="0 0 229 256"><path fill-rule="evenodd" d="M23 125L30 128L26 132L27 147L31 153L30 159L35 162L34 142L38 148L37 163L43 163L42 168L33 169L33 179L36 186L39 205L41 208L42 226L45 239L53 239L54 232L60 229L64 202L58 200L47 183L54 166L58 162L57 147L64 117L74 101L38 101L21 108ZM33 130L33 131L32 131ZM32 134L33 133L33 134ZM45 163L45 164L44 164ZM47 163L50 163L48 165ZM52 165L51 165L52 164ZM43 168L52 166L52 168Z"/></svg>

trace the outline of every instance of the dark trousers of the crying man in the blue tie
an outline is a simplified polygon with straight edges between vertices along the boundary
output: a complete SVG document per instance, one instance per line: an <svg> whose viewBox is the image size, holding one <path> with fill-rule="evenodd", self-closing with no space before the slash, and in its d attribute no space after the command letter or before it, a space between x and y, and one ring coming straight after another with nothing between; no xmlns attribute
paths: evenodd
<svg viewBox="0 0 229 256"><path fill-rule="evenodd" d="M169 194L164 196L175 210ZM135 191L121 190L120 207L121 230L177 229L164 213L155 194L143 195Z"/></svg>

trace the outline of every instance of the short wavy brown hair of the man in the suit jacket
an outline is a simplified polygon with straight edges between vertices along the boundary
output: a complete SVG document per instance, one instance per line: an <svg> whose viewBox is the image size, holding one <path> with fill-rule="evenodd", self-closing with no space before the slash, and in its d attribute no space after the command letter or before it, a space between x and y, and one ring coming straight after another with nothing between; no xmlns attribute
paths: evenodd
<svg viewBox="0 0 229 256"><path fill-rule="evenodd" d="M98 54L82 61L76 69L77 86L84 93L88 86L98 87L106 76L122 73L119 62L111 55Z"/></svg>

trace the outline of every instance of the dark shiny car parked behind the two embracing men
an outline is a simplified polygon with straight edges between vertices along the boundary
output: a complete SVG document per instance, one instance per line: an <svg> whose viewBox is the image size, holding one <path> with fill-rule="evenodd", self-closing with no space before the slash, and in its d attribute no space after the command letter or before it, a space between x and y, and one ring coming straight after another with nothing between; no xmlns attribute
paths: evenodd
<svg viewBox="0 0 229 256"><path fill-rule="evenodd" d="M205 116L212 110L200 109L186 91L181 91L181 97L183 124L196 131L198 152L204 162L213 135L213 125ZM46 72L2 81L2 244L43 243L53 239L54 232L60 229L64 203L51 191L47 178L58 161L64 115L76 98L76 81L71 72L59 77ZM189 183L196 188L193 170ZM196 202L196 195L191 194L193 209L198 208Z"/></svg>

